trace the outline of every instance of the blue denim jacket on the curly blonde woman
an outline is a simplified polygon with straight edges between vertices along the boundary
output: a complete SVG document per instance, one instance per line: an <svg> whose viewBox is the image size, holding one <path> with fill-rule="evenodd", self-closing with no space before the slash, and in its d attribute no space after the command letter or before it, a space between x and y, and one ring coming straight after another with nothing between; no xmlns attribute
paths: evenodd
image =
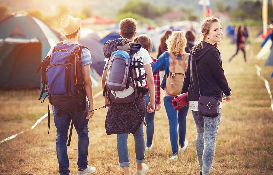
<svg viewBox="0 0 273 175"><path fill-rule="evenodd" d="M177 60L180 60L180 59L181 59L181 55L178 55ZM186 61L188 62L188 58L186 59ZM160 70L162 67L165 70L165 75L160 85L162 89L166 87L167 76L169 76L169 73L170 73L170 70L169 70L170 64L171 64L171 56L167 52L164 52L162 55L160 55L160 57L158 57L157 61L152 65L153 72Z"/></svg>

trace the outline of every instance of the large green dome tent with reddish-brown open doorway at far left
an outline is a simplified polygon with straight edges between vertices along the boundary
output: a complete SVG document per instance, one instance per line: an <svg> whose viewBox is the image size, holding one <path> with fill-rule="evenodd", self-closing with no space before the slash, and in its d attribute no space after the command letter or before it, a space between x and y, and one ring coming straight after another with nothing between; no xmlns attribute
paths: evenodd
<svg viewBox="0 0 273 175"><path fill-rule="evenodd" d="M40 88L36 72L49 49L65 38L41 19L16 13L0 22L0 89ZM99 82L91 72L93 84Z"/></svg>

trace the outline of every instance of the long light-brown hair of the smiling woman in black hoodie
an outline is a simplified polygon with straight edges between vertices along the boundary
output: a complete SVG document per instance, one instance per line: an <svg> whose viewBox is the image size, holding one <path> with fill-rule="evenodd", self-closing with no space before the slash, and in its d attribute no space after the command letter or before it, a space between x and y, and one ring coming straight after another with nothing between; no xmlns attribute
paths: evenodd
<svg viewBox="0 0 273 175"><path fill-rule="evenodd" d="M206 19L201 20L200 26L201 26L201 36L200 38L196 41L194 48L200 49L202 42L205 41L206 35L209 34L210 27L212 23L214 22L220 22L218 18L214 17L207 17ZM214 44L216 48L218 48L218 42Z"/></svg>

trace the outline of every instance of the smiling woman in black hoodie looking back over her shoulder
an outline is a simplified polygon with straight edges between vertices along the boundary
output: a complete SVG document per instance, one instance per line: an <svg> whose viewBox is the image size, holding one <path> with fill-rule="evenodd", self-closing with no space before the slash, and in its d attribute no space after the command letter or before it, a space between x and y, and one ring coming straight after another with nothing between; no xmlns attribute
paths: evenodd
<svg viewBox="0 0 273 175"><path fill-rule="evenodd" d="M188 92L187 100L197 129L196 152L200 174L209 175L213 168L222 99L229 101L232 93L224 75L218 49L218 42L222 36L219 20L213 17L204 19L201 22L201 32L201 38L195 43L189 55L181 93ZM217 117L204 117L199 114L197 106L200 94L220 101L220 112Z"/></svg>

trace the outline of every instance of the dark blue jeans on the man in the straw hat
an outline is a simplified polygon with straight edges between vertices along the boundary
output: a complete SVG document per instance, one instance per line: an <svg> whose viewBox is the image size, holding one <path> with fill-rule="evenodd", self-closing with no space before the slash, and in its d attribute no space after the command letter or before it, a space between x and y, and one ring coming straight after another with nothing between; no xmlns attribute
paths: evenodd
<svg viewBox="0 0 273 175"><path fill-rule="evenodd" d="M88 155L88 120L86 105L85 111L75 112L74 126L78 133L78 162L77 165L80 169L87 168L87 155ZM57 128L57 138L56 138L56 150L57 158L59 163L59 173L61 175L69 175L69 160L67 156L67 132L70 127L70 121L72 118L72 113L63 112L59 117L57 116L58 109L52 106L54 114L54 123ZM73 128L74 129L74 128Z"/></svg>

